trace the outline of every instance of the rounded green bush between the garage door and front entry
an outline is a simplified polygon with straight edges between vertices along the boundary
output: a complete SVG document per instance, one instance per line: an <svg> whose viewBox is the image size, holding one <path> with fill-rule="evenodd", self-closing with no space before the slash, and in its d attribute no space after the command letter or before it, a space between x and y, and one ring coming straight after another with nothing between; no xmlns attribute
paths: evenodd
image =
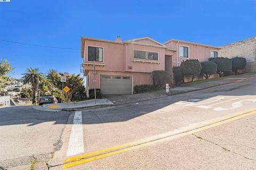
<svg viewBox="0 0 256 170"><path fill-rule="evenodd" d="M172 77L164 70L155 70L152 72L155 86L162 86L165 83L172 81Z"/></svg>

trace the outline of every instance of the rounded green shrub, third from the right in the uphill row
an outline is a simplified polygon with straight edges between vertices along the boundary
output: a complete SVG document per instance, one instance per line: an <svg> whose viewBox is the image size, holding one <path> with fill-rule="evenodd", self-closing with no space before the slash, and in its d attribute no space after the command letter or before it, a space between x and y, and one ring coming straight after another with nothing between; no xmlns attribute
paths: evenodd
<svg viewBox="0 0 256 170"><path fill-rule="evenodd" d="M217 73L217 64L214 62L202 62L202 70L201 75L205 77L205 79L209 79L211 74Z"/></svg>

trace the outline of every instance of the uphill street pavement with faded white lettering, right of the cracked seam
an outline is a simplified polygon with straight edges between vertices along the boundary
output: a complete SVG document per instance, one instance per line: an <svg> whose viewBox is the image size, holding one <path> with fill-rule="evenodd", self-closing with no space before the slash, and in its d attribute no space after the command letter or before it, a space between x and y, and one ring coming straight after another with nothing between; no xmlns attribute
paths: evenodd
<svg viewBox="0 0 256 170"><path fill-rule="evenodd" d="M70 139L74 128L71 123L76 115L73 113L62 136L63 147L55 153L51 163L53 167L50 169L61 169L63 165L68 164L63 160L70 158L70 155L67 155L70 149L77 150L74 153L75 157L83 153L99 152L109 147L115 148L125 143L154 138L159 134L190 128L254 108L256 108L255 79L182 95L83 111L82 128L76 131L77 134L83 134L82 142L81 138ZM98 160L75 165L70 169L243 169L241 167L253 169L256 156L256 142L253 142L254 125L255 115L251 115L217 126L212 130L106 158L96 158ZM247 139L244 138L245 136ZM245 149L244 145L246 145ZM236 149L227 151L229 149L223 148ZM247 153L250 154L249 159ZM246 157L245 160L239 155ZM190 156L195 158L190 159ZM223 163L229 159L232 160L224 166ZM241 161L238 161L240 159ZM208 164L212 165L207 166Z"/></svg>

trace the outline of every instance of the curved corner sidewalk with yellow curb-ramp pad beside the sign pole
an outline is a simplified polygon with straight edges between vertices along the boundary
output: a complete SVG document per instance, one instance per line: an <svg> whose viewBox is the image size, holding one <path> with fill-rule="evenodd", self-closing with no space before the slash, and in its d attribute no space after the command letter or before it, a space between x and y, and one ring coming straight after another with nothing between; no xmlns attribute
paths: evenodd
<svg viewBox="0 0 256 170"><path fill-rule="evenodd" d="M84 109L100 108L112 105L114 104L108 99L97 99L96 103L94 99L91 99L73 103L46 104L43 105L43 108L61 111L79 111Z"/></svg>

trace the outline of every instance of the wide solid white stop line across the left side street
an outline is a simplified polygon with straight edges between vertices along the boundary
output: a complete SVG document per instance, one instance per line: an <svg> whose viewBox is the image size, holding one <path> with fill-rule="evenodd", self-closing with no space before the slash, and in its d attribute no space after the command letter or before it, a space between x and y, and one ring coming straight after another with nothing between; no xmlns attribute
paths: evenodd
<svg viewBox="0 0 256 170"><path fill-rule="evenodd" d="M67 156L73 156L84 152L84 135L82 111L76 111L74 115L73 126L68 142Z"/></svg>

